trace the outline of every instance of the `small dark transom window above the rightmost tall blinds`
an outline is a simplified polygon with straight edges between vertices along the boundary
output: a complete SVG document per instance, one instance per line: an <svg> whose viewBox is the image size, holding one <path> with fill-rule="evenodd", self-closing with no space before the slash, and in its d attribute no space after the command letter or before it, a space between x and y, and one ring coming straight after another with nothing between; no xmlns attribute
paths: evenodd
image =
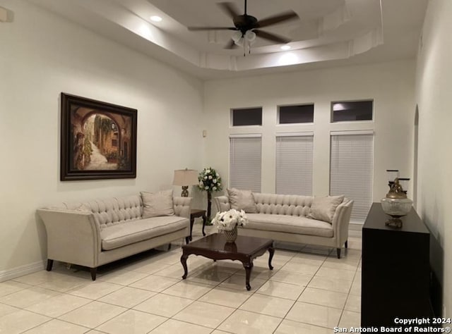
<svg viewBox="0 0 452 334"><path fill-rule="evenodd" d="M331 121L372 120L374 101L345 101L331 103Z"/></svg>

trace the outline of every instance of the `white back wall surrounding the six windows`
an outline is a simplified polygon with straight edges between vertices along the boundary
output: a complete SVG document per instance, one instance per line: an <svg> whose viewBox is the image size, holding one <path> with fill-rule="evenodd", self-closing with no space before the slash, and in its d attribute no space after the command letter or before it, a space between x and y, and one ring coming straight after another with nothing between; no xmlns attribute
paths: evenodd
<svg viewBox="0 0 452 334"><path fill-rule="evenodd" d="M205 85L206 163L227 185L230 133L262 133L262 192L275 192L275 132L314 131L314 187L329 192L331 130L374 130L374 202L388 192L386 169L412 178L415 63L213 80ZM374 99L374 121L330 123L331 101ZM314 125L277 125L277 106L314 103ZM230 128L230 109L263 107L261 127Z"/></svg>

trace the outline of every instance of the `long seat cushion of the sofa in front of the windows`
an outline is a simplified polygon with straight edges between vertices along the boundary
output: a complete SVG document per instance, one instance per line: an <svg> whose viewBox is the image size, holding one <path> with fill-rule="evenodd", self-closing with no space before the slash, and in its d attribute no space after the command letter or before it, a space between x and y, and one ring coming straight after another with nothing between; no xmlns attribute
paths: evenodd
<svg viewBox="0 0 452 334"><path fill-rule="evenodd" d="M324 221L277 214L247 214L246 216L248 223L243 227L246 229L333 237L332 225Z"/></svg>

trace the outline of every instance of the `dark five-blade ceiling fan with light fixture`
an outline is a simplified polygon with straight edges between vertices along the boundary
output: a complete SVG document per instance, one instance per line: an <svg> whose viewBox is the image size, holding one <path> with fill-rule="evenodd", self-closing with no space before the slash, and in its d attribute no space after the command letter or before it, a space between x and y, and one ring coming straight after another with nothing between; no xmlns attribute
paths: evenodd
<svg viewBox="0 0 452 334"><path fill-rule="evenodd" d="M220 2L218 6L224 11L227 16L232 18L234 27L188 27L191 31L196 30L235 30L237 31L233 36L232 40L225 46L225 49L234 49L237 46L243 46L250 48L251 44L254 42L256 37L261 37L263 39L268 39L272 42L277 42L281 44L287 44L290 39L287 37L282 37L275 35L271 32L266 32L261 30L262 27L268 27L270 25L275 25L277 23L282 23L289 20L298 19L297 13L294 11L286 11L284 13L279 13L275 16L270 16L264 18L263 20L258 20L254 16L248 15L246 13L246 0L244 14L240 15L235 4L232 2Z"/></svg>

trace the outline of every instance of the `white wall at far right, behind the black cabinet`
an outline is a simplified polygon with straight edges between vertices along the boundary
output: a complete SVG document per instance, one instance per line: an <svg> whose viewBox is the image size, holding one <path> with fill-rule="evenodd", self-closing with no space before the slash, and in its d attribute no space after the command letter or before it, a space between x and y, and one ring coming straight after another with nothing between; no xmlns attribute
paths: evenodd
<svg viewBox="0 0 452 334"><path fill-rule="evenodd" d="M436 270L443 280L445 317L452 316L451 18L451 1L429 2L416 81L419 108L417 208L444 252L443 259L436 259L443 260L444 268L439 263Z"/></svg>

